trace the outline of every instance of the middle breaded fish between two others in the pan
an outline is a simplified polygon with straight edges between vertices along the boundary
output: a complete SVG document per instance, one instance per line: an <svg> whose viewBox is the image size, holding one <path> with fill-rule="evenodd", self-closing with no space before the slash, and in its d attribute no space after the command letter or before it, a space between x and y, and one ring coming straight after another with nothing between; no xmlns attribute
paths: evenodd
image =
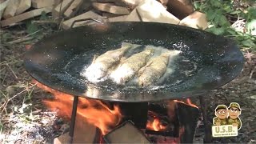
<svg viewBox="0 0 256 144"><path fill-rule="evenodd" d="M118 84L125 84L130 81L131 78L134 78L135 74L138 74L138 70L146 65L146 62L150 59L153 52L154 50L147 49L130 56L130 58L123 61L122 64L110 74L110 78Z"/></svg>

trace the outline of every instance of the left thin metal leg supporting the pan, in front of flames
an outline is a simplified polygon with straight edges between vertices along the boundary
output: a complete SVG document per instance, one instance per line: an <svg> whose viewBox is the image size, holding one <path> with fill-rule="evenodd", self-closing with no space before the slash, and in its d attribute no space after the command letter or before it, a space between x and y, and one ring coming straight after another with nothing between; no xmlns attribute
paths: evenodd
<svg viewBox="0 0 256 144"><path fill-rule="evenodd" d="M72 109L72 115L71 115L71 123L70 123L70 143L73 142L74 126L75 126L75 118L76 118L76 114L77 114L77 108L78 108L78 96L74 96L73 109Z"/></svg>

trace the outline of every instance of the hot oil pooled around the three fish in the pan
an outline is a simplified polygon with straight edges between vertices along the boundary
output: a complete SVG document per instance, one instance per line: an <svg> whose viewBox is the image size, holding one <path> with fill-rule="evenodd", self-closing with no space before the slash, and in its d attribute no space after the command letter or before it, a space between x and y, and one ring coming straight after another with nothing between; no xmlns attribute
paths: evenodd
<svg viewBox="0 0 256 144"><path fill-rule="evenodd" d="M128 51L124 57L129 58L133 54L138 54L145 50L146 46L138 46L138 48ZM71 75L75 78L78 78L80 81L88 82L85 77L82 76L81 73L86 70L88 66L90 66L91 62L94 59L95 54L104 54L108 50L115 50L120 48L120 46L110 46L108 49L94 49L90 51L86 51L84 54L78 54L75 58L73 58L65 67L67 73L71 73ZM159 54L170 51L163 47L155 47L154 46L154 55L151 58L157 57ZM173 51L177 53L177 50ZM186 79L193 77L194 74L200 69L197 62L191 62L189 58L180 54L170 54L170 59L167 65L166 73L158 80L158 82L154 83L154 86L150 86L149 89L157 90L159 88L164 88L166 86L175 86L178 85ZM101 87L110 87L112 89L118 90L127 90L127 89L138 89L138 78L135 77L130 82L126 82L125 86L117 85L109 78L106 78L102 82L97 82L98 86Z"/></svg>

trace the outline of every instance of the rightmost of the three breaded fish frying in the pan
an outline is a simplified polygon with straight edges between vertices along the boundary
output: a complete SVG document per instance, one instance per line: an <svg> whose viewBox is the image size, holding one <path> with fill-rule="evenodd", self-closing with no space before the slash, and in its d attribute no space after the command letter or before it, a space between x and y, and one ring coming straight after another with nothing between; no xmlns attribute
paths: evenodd
<svg viewBox="0 0 256 144"><path fill-rule="evenodd" d="M165 74L169 62L170 53L162 53L158 57L151 58L146 66L138 71L138 85L146 87L158 82Z"/></svg>

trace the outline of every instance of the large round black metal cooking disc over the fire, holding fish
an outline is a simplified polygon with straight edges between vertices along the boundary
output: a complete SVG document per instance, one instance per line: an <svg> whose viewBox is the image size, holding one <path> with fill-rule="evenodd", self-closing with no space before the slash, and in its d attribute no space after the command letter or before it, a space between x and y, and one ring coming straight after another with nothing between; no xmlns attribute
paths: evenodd
<svg viewBox="0 0 256 144"><path fill-rule="evenodd" d="M109 85L92 89L80 76L83 66L90 64L94 54L114 50L122 42L181 50L182 56L198 65L197 70L192 76L183 77L182 72L190 66L175 61L179 69L164 88L131 90ZM38 82L67 94L117 102L150 102L190 97L223 86L238 76L243 60L232 40L202 30L154 22L111 22L44 38L26 53L25 67Z"/></svg>

